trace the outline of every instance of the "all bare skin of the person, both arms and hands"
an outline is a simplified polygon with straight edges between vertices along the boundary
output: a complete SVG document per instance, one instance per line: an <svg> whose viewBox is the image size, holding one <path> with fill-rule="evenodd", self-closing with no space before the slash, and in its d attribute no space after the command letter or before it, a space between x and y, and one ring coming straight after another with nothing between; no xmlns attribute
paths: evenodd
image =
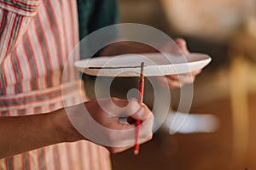
<svg viewBox="0 0 256 170"><path fill-rule="evenodd" d="M184 54L188 54L189 51L186 48L186 43L183 39L177 39L177 46L183 51ZM166 45L168 48L168 44ZM119 44L113 44L108 48L102 50L102 55L108 54L127 54L127 53L148 53L156 52L150 47L144 47L138 44L129 42L120 42ZM190 74L183 74L178 79L177 75L166 76L168 79L168 88L180 88L184 83L192 83L195 80L195 76L201 71L194 71ZM161 78L156 77L159 82ZM111 106L113 103L119 106L125 106L128 104L124 99L106 99L105 105ZM96 122L100 123L104 127L108 127L116 130L125 130L135 127L134 124L124 124L119 122L120 114L122 116L130 116L134 119L140 119L144 123L140 130L140 143L144 143L152 138L152 126L153 126L153 114L148 110L146 105L139 105L137 100L134 99L131 105L128 105L125 112L119 113L113 111L110 116L105 111L102 111L98 105L98 101L90 100L80 105L74 105L69 109L74 113L79 113L79 108L84 106L88 109L89 114ZM115 115L115 116L113 116ZM42 123L44 122L44 123ZM108 133L108 132L106 132ZM78 140L88 140L81 135L68 120L67 113L64 109L53 111L50 113L44 113L31 116L0 116L0 158L7 156L14 156L15 154L23 153L28 150L38 149L50 144L58 144L61 142L74 142ZM123 140L134 140L134 135L127 135L125 139L122 136L111 136L109 142L121 143ZM94 142L94 141L92 141ZM131 148L133 145L125 147L109 147L106 148L112 153L117 153L123 150Z"/></svg>

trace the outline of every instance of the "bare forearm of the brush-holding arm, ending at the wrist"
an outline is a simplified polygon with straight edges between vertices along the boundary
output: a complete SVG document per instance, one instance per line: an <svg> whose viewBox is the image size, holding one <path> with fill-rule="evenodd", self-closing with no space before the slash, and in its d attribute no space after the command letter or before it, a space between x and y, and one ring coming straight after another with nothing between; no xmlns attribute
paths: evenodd
<svg viewBox="0 0 256 170"><path fill-rule="evenodd" d="M0 116L0 158L77 140L64 109L32 116Z"/></svg>

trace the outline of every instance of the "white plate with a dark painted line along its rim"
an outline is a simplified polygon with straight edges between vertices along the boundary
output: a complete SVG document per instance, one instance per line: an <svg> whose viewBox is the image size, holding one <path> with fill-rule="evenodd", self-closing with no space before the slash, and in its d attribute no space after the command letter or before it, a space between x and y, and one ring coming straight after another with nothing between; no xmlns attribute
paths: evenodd
<svg viewBox="0 0 256 170"><path fill-rule="evenodd" d="M75 67L85 74L101 77L138 77L140 65L144 66L144 76L164 76L188 73L208 65L211 57L207 54L123 54L97 57L75 62Z"/></svg>

